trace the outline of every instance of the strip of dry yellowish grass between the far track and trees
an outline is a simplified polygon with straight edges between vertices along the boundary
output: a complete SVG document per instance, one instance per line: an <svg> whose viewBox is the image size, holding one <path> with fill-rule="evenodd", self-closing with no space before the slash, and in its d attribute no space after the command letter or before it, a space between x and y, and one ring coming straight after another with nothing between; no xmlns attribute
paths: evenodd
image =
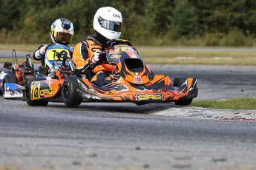
<svg viewBox="0 0 256 170"><path fill-rule="evenodd" d="M1 44L0 50L34 52L40 44ZM70 46L74 47L75 44ZM193 65L250 65L256 66L255 51L217 47L137 47L140 56L148 64ZM3 63L5 59L1 59Z"/></svg>

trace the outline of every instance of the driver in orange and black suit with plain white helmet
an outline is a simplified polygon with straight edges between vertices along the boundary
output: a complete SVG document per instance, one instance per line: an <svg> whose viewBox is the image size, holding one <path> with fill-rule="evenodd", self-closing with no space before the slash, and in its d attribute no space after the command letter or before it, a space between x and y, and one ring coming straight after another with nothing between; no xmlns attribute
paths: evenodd
<svg viewBox="0 0 256 170"><path fill-rule="evenodd" d="M111 39L118 39L122 31L122 14L113 7L99 8L93 18L96 35L89 35L86 41L76 44L73 61L79 72L84 72L91 83L104 86L114 81L111 72L116 67L102 64L104 52L100 48ZM94 76L93 76L94 75Z"/></svg>

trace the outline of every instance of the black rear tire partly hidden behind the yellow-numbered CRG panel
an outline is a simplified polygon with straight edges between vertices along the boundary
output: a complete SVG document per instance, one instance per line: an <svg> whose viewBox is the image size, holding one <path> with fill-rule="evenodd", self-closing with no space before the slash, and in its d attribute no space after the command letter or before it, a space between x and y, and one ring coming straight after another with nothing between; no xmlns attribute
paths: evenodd
<svg viewBox="0 0 256 170"><path fill-rule="evenodd" d="M47 106L48 104L48 100L36 100L36 101L33 101L31 100L31 83L32 81L44 81L45 78L30 78L29 81L27 81L27 84L25 85L25 98L26 98L26 101L27 101L27 104L29 106Z"/></svg>

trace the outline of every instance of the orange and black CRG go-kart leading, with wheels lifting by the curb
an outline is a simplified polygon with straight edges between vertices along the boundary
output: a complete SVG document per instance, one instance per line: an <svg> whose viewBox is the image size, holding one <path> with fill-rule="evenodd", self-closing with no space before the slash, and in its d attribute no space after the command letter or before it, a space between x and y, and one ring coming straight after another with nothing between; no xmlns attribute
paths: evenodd
<svg viewBox="0 0 256 170"><path fill-rule="evenodd" d="M79 106L86 101L168 103L188 105L197 97L197 79L171 79L166 75L154 75L147 64L134 50L132 44L125 40L111 40L102 47L109 47L105 55L105 64L116 66L111 75L114 82L97 86L88 78L70 76L63 81L60 89L56 81L37 81L28 84L27 96L31 101L47 101L61 93L67 106Z"/></svg>

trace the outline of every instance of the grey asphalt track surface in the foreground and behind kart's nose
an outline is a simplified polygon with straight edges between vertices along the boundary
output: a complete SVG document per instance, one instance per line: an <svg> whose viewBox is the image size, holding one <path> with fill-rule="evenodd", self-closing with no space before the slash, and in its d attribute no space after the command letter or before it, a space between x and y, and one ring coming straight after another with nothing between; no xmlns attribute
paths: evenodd
<svg viewBox="0 0 256 170"><path fill-rule="evenodd" d="M171 78L197 78L200 91L195 100L248 97L256 92L255 67L157 65L151 69ZM32 107L2 97L0 103L0 167L256 169L255 121L197 118L184 112L191 107L173 103Z"/></svg>

